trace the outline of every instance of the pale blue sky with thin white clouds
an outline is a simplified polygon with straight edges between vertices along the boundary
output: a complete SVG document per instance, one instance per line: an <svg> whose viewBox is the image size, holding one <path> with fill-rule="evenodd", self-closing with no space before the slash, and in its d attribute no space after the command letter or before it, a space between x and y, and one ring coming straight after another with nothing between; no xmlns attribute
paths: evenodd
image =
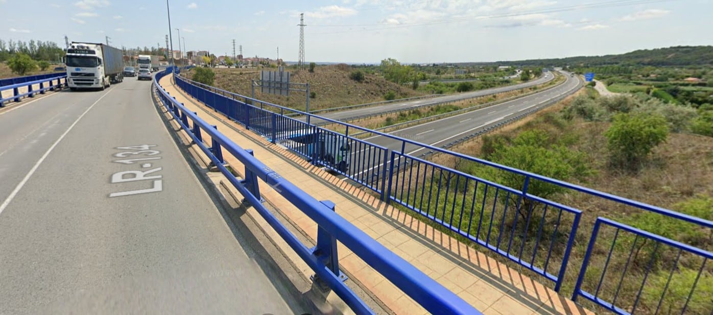
<svg viewBox="0 0 713 315"><path fill-rule="evenodd" d="M307 62L513 61L712 45L713 0L169 0L173 48ZM166 1L0 0L0 38L162 46ZM15 12L31 12L15 14ZM175 29L178 29L175 30ZM179 36L180 34L180 36ZM182 37L182 38L179 38ZM278 55L279 50L279 55Z"/></svg>

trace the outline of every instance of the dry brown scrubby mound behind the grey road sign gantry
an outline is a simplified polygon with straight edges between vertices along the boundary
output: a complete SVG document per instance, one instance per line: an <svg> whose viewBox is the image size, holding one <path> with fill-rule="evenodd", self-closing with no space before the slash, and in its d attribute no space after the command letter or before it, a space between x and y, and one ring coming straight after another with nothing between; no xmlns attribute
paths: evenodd
<svg viewBox="0 0 713 315"><path fill-rule="evenodd" d="M256 69L214 68L214 86L226 91L250 96L251 80L260 78ZM424 95L414 91L409 86L400 86L384 80L381 76L365 73L364 81L356 82L349 78L352 68L346 65L317 66L314 73L309 71L290 71L290 81L293 83L309 83L309 91L314 92L314 98L309 99L309 109L334 108L346 105L371 103L384 100L389 91L396 93L396 98L408 98ZM190 78L191 73L188 73ZM260 93L255 88L255 98L289 108L304 110L304 92L290 91L289 96Z"/></svg>

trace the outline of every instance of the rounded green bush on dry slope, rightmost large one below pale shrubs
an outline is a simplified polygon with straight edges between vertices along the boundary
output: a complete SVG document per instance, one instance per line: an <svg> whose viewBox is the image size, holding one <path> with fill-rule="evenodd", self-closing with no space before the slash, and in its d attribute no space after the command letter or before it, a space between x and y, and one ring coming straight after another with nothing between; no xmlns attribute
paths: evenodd
<svg viewBox="0 0 713 315"><path fill-rule="evenodd" d="M660 115L617 114L604 135L607 138L612 167L638 170L668 136L666 120Z"/></svg>

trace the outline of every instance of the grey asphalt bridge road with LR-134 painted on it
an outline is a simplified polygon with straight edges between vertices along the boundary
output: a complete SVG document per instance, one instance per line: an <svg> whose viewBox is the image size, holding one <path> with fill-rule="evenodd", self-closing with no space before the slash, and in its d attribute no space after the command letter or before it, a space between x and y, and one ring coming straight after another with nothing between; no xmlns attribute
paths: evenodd
<svg viewBox="0 0 713 315"><path fill-rule="evenodd" d="M0 110L0 314L309 311L232 232L149 89Z"/></svg>

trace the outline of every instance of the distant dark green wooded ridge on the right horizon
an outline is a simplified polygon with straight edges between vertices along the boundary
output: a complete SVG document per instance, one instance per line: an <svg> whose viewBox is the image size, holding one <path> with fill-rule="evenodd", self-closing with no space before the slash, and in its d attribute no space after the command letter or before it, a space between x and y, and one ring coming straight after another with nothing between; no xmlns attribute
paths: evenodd
<svg viewBox="0 0 713 315"><path fill-rule="evenodd" d="M712 66L713 46L675 46L640 49L618 55L502 61L499 65L517 66Z"/></svg>

